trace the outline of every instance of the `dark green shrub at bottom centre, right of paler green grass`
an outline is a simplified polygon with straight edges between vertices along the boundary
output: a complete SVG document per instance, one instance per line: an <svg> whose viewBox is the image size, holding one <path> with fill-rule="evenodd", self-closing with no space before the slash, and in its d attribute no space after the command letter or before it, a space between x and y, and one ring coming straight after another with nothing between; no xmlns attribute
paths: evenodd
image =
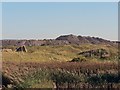
<svg viewBox="0 0 120 90"><path fill-rule="evenodd" d="M83 82L82 75L79 76L75 73L62 70L52 73L51 79L55 82L57 88L61 88L61 85L65 85L64 87L70 88L79 82Z"/></svg>

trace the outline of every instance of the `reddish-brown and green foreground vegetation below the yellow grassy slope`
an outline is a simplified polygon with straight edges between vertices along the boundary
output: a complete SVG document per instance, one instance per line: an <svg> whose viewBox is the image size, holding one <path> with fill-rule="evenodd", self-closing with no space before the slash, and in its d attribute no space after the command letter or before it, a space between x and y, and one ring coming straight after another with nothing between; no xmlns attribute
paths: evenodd
<svg viewBox="0 0 120 90"><path fill-rule="evenodd" d="M120 84L117 62L26 62L21 66L14 62L3 64L4 75L13 80L13 86L17 88L87 88L107 87L109 84L119 87Z"/></svg>

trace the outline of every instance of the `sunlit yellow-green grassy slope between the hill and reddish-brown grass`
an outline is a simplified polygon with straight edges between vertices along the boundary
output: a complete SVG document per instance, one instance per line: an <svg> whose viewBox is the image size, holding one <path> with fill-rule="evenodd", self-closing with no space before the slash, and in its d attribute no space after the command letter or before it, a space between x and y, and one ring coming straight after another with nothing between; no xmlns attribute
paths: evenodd
<svg viewBox="0 0 120 90"><path fill-rule="evenodd" d="M27 47L27 53L2 52L3 61L17 62L51 62L51 61L69 61L78 57L81 51L104 48L115 55L117 48L108 45L65 45L65 46L32 46Z"/></svg>

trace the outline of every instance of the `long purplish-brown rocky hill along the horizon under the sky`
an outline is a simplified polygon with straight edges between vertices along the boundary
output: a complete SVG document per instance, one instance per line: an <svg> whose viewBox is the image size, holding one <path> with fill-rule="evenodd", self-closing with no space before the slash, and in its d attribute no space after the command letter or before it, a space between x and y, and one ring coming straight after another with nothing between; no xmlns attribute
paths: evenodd
<svg viewBox="0 0 120 90"><path fill-rule="evenodd" d="M109 44L116 45L116 42L105 40L98 37L90 36L76 36L76 35L62 35L56 39L44 39L44 40L2 40L2 46L48 46L48 45L81 45L81 44Z"/></svg>

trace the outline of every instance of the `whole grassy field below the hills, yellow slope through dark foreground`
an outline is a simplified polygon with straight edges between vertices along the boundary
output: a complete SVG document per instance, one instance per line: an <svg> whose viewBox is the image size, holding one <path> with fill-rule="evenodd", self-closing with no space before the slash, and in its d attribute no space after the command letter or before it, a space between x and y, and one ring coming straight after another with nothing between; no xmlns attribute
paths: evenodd
<svg viewBox="0 0 120 90"><path fill-rule="evenodd" d="M27 46L28 52L2 52L4 87L119 88L118 48L110 45ZM80 52L105 49L107 58ZM71 62L71 60L79 60Z"/></svg>

